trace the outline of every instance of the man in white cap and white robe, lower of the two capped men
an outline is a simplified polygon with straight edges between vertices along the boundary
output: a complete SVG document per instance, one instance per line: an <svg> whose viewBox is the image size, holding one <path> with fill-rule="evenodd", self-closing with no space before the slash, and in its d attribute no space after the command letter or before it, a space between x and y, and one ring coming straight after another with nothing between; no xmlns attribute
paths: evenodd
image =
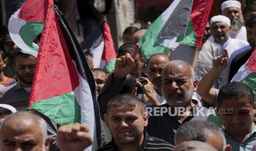
<svg viewBox="0 0 256 151"><path fill-rule="evenodd" d="M237 54L249 49L250 45L244 40L231 38L230 25L230 19L223 15L213 16L213 18L210 20L210 31L211 35L213 36L214 43L221 44L222 47L227 50L229 62L232 62L233 58ZM230 63L219 75L218 88L221 88L222 85L227 83L229 71Z"/></svg>

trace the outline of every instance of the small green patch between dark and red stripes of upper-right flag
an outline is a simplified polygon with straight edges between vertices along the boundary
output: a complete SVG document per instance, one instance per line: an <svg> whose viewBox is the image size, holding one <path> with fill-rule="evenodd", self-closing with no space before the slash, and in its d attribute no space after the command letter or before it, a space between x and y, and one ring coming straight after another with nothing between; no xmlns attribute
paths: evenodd
<svg viewBox="0 0 256 151"><path fill-rule="evenodd" d="M181 44L186 44L190 46L195 46L195 40L197 40L197 35L194 33L194 28L192 26L192 21L188 20L188 27L184 34L178 36L176 42Z"/></svg>

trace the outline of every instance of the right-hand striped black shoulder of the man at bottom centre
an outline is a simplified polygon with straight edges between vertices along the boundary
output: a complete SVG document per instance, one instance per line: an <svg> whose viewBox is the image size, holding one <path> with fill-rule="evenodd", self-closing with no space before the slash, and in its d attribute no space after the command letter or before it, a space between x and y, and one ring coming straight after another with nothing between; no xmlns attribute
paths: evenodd
<svg viewBox="0 0 256 151"><path fill-rule="evenodd" d="M146 143L146 148L152 148L152 149L170 149L172 150L173 148L175 148L175 146L173 146L172 144L161 140L159 138L155 138L152 136L149 136L148 138L148 142Z"/></svg>

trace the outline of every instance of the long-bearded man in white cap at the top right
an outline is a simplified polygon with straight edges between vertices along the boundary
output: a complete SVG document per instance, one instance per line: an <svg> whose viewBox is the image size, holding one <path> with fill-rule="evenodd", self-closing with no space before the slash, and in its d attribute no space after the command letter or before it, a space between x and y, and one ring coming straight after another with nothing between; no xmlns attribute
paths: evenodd
<svg viewBox="0 0 256 151"><path fill-rule="evenodd" d="M243 26L241 3L235 0L225 1L221 4L222 15L231 21L230 37L246 40L246 27Z"/></svg>

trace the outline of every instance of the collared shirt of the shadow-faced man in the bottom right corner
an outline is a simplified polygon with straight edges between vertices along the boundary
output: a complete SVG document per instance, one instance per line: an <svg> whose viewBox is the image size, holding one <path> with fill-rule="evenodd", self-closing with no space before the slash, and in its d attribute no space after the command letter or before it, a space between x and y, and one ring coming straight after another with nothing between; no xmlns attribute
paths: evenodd
<svg viewBox="0 0 256 151"><path fill-rule="evenodd" d="M254 123L255 123L255 121L256 121L256 119L254 118ZM233 151L250 151L250 150L252 150L253 145L256 141L256 126L254 126L254 129L253 129L252 133L250 134L250 136L242 143L239 143L238 141L234 140L231 136L229 136L225 132L225 128L223 126L221 129L224 131L227 144L231 145Z"/></svg>

